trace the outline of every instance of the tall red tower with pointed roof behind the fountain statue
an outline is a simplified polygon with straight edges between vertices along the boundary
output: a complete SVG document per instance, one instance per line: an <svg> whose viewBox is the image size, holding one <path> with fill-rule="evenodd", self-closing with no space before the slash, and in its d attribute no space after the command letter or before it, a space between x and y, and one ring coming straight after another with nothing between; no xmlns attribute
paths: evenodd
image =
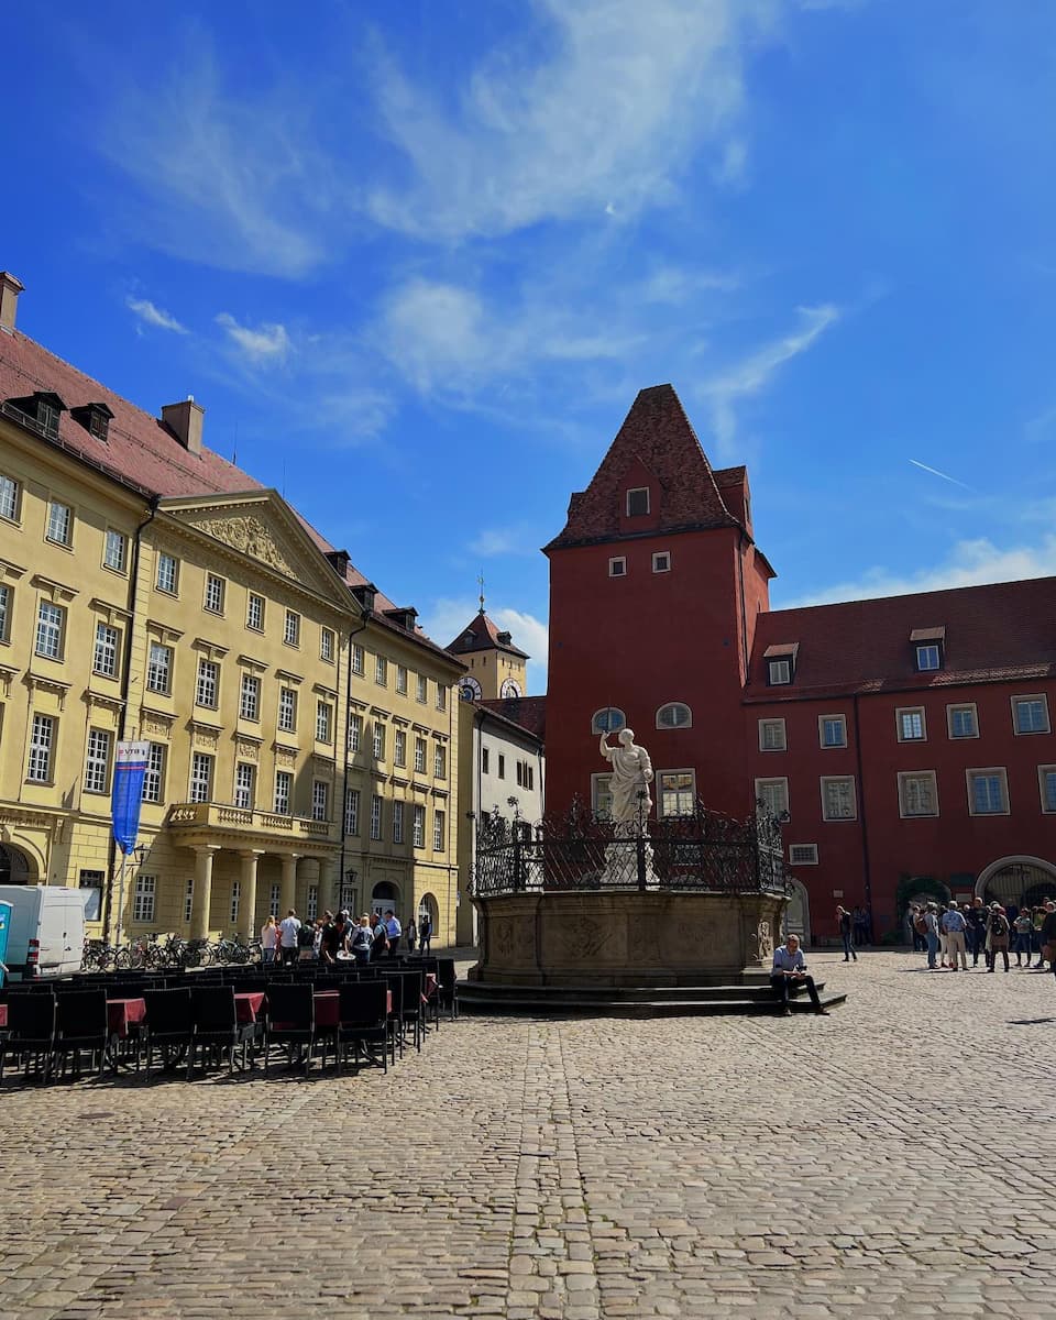
<svg viewBox="0 0 1056 1320"><path fill-rule="evenodd" d="M751 809L742 692L774 570L747 474L715 471L671 385L643 389L550 561L546 807L605 805L598 733L630 726L660 812Z"/></svg>

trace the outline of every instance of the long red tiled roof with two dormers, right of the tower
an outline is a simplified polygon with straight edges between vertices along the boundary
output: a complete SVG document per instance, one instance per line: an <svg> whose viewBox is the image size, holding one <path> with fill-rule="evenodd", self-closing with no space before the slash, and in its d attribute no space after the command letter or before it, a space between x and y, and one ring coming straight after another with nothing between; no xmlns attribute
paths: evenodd
<svg viewBox="0 0 1056 1320"><path fill-rule="evenodd" d="M1056 577L760 614L748 701L1056 677ZM909 634L945 627L944 665L919 673ZM764 653L799 644L789 686Z"/></svg>

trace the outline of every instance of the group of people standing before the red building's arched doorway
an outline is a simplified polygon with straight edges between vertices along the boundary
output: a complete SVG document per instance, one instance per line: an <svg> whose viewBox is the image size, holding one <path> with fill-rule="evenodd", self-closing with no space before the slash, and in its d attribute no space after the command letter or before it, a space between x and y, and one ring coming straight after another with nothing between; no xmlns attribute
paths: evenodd
<svg viewBox="0 0 1056 1320"><path fill-rule="evenodd" d="M1036 954L1035 970L1043 970L1047 960L1056 969L1056 902L1051 899L1035 908L1007 909L979 896L964 904L950 899L941 908L939 903L913 904L909 921L913 949L927 952L932 972L966 972L969 954L973 968L982 954L987 972L997 970L1001 956L1007 972L1010 949L1018 968L1030 968Z"/></svg>

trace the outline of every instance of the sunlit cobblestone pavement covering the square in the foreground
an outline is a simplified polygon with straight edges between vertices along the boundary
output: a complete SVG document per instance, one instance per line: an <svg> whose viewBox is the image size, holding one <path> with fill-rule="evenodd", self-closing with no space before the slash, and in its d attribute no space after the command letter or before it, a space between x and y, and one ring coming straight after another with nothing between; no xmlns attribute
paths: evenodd
<svg viewBox="0 0 1056 1320"><path fill-rule="evenodd" d="M812 964L830 1018L463 1018L387 1077L5 1082L0 1316L1051 1317L1053 978Z"/></svg>

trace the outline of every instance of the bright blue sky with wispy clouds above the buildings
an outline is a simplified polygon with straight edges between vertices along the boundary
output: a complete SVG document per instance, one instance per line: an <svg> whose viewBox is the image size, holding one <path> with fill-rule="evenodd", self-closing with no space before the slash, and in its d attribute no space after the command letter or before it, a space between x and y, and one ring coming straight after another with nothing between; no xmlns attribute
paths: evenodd
<svg viewBox="0 0 1056 1320"><path fill-rule="evenodd" d="M178 12L174 12L178 11ZM636 391L775 607L1056 573L1056 5L18 5L18 325L537 661Z"/></svg>

